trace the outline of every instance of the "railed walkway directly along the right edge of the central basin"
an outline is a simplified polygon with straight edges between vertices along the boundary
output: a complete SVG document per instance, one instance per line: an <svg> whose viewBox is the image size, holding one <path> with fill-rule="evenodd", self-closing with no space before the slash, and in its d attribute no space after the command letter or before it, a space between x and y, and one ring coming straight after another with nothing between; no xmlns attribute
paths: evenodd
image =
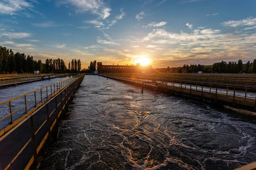
<svg viewBox="0 0 256 170"><path fill-rule="evenodd" d="M187 93L200 97L212 98L233 104L241 104L256 109L256 84L231 84L231 83L216 83L186 79L167 79L150 76L108 74L110 77L118 77L129 81L140 82L142 84L155 82L158 87L178 93Z"/></svg>

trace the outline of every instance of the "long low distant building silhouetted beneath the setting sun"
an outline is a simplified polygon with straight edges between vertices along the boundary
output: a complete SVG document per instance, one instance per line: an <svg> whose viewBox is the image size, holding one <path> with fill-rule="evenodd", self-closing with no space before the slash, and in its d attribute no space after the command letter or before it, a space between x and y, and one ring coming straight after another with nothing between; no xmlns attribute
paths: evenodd
<svg viewBox="0 0 256 170"><path fill-rule="evenodd" d="M128 65L102 65L102 62L97 63L99 73L146 73L152 72L152 66L141 66L137 63L136 66Z"/></svg>

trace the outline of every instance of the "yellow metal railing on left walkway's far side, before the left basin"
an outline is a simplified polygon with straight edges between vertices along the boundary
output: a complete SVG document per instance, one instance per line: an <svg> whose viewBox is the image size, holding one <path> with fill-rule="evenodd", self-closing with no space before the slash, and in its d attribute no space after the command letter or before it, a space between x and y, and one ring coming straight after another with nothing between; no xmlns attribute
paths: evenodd
<svg viewBox="0 0 256 170"><path fill-rule="evenodd" d="M0 136L75 79L76 76L67 78L5 102L0 102L0 111L2 114L5 113L0 117Z"/></svg>

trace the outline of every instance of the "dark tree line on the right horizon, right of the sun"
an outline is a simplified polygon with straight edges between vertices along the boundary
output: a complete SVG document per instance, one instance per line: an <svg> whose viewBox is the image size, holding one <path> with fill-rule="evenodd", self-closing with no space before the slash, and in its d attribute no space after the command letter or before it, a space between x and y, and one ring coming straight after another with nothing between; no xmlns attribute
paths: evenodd
<svg viewBox="0 0 256 170"><path fill-rule="evenodd" d="M160 72L169 72L169 73L198 73L202 71L203 73L256 73L256 59L253 62L247 61L243 64L241 59L238 62L226 62L221 61L214 63L213 65L194 65L184 64L183 67L177 68L156 68Z"/></svg>

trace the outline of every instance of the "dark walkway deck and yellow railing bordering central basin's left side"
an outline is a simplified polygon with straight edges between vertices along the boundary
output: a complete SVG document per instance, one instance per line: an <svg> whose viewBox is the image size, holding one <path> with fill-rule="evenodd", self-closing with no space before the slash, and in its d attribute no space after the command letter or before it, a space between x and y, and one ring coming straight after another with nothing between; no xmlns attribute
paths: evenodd
<svg viewBox="0 0 256 170"><path fill-rule="evenodd" d="M29 169L58 125L84 75L53 96L32 114L0 137L0 170Z"/></svg>

